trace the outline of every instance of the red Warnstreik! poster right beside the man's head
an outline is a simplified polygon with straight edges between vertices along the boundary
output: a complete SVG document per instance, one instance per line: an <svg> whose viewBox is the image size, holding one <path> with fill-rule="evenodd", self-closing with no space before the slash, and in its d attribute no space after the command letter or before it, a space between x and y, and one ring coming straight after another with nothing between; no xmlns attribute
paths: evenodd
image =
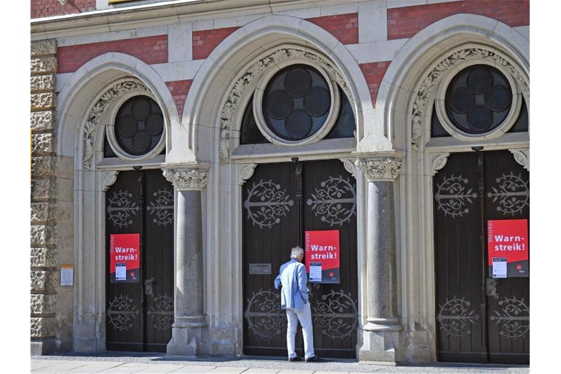
<svg viewBox="0 0 561 374"><path fill-rule="evenodd" d="M305 231L304 238L310 283L341 283L339 230Z"/></svg>

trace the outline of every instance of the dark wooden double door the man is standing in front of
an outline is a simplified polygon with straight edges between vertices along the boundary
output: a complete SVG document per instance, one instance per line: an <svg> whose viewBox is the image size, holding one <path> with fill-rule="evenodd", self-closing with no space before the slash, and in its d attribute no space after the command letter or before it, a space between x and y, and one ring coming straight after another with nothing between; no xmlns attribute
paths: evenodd
<svg viewBox="0 0 561 374"><path fill-rule="evenodd" d="M273 280L306 230L339 230L341 283L309 284L314 348L356 357L356 182L339 160L264 164L243 187L243 352L287 355L286 312ZM297 353L303 355L301 330Z"/></svg>

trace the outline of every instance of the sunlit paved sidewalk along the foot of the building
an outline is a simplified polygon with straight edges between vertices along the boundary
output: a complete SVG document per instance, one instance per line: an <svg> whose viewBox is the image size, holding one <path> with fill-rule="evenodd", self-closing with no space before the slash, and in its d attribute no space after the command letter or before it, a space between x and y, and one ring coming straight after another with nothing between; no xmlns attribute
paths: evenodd
<svg viewBox="0 0 561 374"><path fill-rule="evenodd" d="M201 358L185 361L165 355L97 353L95 355L50 355L31 357L32 373L222 373L222 374L528 374L528 366L432 364L423 366L378 366L355 360L328 359L322 363L287 362L278 357Z"/></svg>

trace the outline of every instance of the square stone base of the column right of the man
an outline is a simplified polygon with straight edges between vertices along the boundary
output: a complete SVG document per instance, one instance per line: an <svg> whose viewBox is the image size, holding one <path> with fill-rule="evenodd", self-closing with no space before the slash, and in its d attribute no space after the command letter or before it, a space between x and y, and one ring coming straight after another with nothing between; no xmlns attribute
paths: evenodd
<svg viewBox="0 0 561 374"><path fill-rule="evenodd" d="M395 365L401 361L401 332L362 331L362 341L362 347L358 351L359 363Z"/></svg>

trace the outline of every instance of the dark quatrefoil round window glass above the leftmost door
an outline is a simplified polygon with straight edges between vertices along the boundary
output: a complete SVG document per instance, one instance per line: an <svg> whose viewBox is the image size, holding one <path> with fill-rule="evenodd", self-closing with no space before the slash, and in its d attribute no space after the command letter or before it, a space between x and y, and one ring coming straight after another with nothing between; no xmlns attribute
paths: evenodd
<svg viewBox="0 0 561 374"><path fill-rule="evenodd" d="M117 143L128 154L140 156L158 145L164 131L164 117L158 104L148 96L125 101L115 119Z"/></svg>

